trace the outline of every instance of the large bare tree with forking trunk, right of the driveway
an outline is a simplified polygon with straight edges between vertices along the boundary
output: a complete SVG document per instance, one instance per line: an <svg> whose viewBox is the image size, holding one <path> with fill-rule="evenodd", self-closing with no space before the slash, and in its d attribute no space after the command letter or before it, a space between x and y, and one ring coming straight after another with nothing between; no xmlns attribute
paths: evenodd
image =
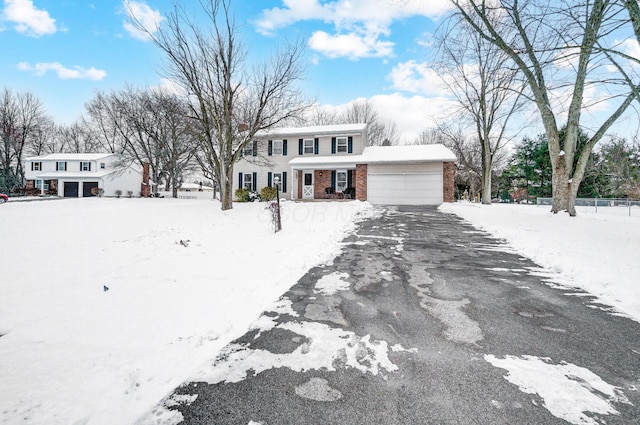
<svg viewBox="0 0 640 425"><path fill-rule="evenodd" d="M593 147L639 94L637 83L628 75L613 81L610 73L599 72L605 65L623 69L610 53L617 41L609 48L604 47L608 38L613 39L609 35L628 24L618 19L623 5L611 0L451 0L451 3L475 31L509 56L524 77L549 142L552 211L566 210L574 216L576 194ZM495 17L499 18L498 23ZM615 84L620 82L624 84ZM603 86L612 93L606 100L615 106L589 141L580 146L577 141L582 112L589 106L586 91ZM563 141L559 136L560 110L552 102L554 89L569 93Z"/></svg>

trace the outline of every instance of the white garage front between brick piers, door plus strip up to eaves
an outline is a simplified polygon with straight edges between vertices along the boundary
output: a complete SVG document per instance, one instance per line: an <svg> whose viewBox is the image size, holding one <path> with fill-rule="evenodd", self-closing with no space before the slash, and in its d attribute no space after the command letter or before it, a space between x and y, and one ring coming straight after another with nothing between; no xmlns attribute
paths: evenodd
<svg viewBox="0 0 640 425"><path fill-rule="evenodd" d="M440 205L442 164L369 165L367 200L374 205Z"/></svg>

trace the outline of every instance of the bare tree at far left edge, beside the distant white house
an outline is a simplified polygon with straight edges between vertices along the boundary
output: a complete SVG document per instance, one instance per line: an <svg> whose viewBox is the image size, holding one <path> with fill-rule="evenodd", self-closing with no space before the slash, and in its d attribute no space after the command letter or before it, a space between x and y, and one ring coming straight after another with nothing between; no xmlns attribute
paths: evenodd
<svg viewBox="0 0 640 425"><path fill-rule="evenodd" d="M0 185L4 190L24 181L24 153L48 121L42 103L33 94L13 93L7 88L0 93Z"/></svg>

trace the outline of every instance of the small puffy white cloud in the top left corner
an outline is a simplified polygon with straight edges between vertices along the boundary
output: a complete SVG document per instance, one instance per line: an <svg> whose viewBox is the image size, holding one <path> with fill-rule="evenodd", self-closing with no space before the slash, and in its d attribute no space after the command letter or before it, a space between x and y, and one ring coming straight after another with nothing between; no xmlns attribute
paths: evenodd
<svg viewBox="0 0 640 425"><path fill-rule="evenodd" d="M46 10L37 9L31 0L4 0L2 18L15 24L16 31L33 37L54 34L56 20Z"/></svg>

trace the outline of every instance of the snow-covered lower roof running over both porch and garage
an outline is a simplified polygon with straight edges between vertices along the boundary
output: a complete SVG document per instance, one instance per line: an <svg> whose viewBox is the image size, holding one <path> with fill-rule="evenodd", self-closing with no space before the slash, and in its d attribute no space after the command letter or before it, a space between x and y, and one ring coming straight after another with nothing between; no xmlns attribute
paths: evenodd
<svg viewBox="0 0 640 425"><path fill-rule="evenodd" d="M454 153L444 145L370 146L361 155L300 156L289 161L295 169L318 167L355 168L356 164L393 164L410 162L455 161Z"/></svg>

